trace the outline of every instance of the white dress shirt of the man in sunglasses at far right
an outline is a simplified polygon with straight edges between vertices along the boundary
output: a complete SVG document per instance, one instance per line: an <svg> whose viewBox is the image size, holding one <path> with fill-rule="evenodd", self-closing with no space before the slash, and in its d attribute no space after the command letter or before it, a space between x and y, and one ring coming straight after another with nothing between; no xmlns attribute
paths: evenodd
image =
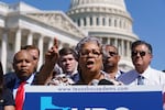
<svg viewBox="0 0 165 110"><path fill-rule="evenodd" d="M124 85L138 85L139 73L136 70L131 70L129 73L122 74L118 79ZM151 68L141 74L144 77L144 85L165 85L165 73Z"/></svg>

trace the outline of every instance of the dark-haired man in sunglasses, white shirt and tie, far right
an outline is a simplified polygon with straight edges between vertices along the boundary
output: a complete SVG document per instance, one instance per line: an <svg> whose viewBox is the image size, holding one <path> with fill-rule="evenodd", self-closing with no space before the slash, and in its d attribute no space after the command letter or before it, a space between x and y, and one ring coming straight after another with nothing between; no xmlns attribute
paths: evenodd
<svg viewBox="0 0 165 110"><path fill-rule="evenodd" d="M124 85L165 85L165 74L150 66L153 58L151 44L135 41L131 45L134 69L120 76Z"/></svg>

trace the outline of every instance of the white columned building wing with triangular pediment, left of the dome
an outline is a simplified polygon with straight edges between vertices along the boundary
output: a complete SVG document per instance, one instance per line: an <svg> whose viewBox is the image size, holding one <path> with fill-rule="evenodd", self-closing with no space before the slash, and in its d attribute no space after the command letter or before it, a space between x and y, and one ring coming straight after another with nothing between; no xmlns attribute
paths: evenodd
<svg viewBox="0 0 165 110"><path fill-rule="evenodd" d="M12 70L13 55L23 45L40 48L40 67L54 37L61 48L75 46L86 35L64 12L42 11L24 2L0 2L0 57L4 72Z"/></svg>

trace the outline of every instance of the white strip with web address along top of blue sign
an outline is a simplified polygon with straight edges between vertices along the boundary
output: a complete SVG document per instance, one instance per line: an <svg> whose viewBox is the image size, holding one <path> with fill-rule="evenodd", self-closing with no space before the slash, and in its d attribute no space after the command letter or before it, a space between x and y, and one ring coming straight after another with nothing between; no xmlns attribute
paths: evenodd
<svg viewBox="0 0 165 110"><path fill-rule="evenodd" d="M162 86L25 86L26 92L132 92L162 91Z"/></svg>

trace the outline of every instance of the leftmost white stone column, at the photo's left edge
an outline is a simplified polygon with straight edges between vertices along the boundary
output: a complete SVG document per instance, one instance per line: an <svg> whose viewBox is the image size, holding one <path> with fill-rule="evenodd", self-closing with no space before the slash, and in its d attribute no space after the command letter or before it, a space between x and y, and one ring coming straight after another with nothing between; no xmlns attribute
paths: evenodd
<svg viewBox="0 0 165 110"><path fill-rule="evenodd" d="M1 43L1 63L3 65L3 73L7 72L7 56L8 56L8 31L4 30L2 33L2 43Z"/></svg>

